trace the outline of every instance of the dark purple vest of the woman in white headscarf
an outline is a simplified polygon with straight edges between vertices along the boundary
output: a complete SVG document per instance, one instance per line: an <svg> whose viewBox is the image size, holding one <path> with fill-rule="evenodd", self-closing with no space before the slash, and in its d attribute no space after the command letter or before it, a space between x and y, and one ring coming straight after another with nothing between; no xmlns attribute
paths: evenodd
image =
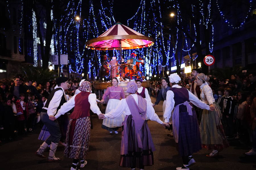
<svg viewBox="0 0 256 170"><path fill-rule="evenodd" d="M172 92L174 93L174 107L176 107L177 105L184 103L185 101L189 101L189 93L187 91L186 88L171 88L170 90L172 90ZM187 108L185 107L185 105L180 105L179 106L179 110L181 112L181 110L183 111L187 111Z"/></svg>

